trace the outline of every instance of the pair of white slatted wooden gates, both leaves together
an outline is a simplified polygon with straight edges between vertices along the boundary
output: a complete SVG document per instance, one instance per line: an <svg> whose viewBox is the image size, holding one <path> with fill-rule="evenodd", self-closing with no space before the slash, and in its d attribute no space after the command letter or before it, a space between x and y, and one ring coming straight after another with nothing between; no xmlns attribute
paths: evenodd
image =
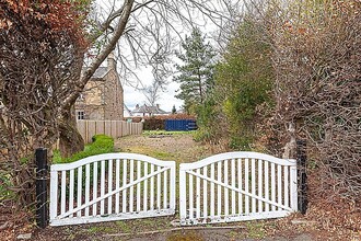
<svg viewBox="0 0 361 241"><path fill-rule="evenodd" d="M108 153L50 169L50 226L175 214L176 165ZM180 225L284 217L296 211L295 160L228 152L179 167Z"/></svg>

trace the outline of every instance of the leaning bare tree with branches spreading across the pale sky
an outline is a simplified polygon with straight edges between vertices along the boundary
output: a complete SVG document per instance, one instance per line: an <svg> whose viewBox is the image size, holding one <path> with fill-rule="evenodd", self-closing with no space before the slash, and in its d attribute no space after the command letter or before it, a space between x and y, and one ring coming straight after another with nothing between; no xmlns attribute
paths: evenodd
<svg viewBox="0 0 361 241"><path fill-rule="evenodd" d="M125 0L118 5L110 2L108 7L106 14L103 18L95 18L92 23L96 24L90 27L91 47L97 45L98 53L80 81L75 83L73 92L61 102L62 116L69 118L65 122L68 128L63 129L65 135L60 137L67 136L69 129L74 130L71 125L73 122L70 119L71 106L113 49L117 49L124 78L127 73L133 73L133 68L142 64L151 65L156 70L155 80L160 81L162 79L160 76L164 76L167 71L165 64L171 55L174 36L180 36L179 30L197 24L194 16L207 19L220 26L231 20L229 10L232 9L229 1L212 0L201 3L196 0ZM73 139L61 138L61 140L66 144L79 142L77 141L79 135L71 137ZM68 151L63 150L63 152Z"/></svg>

